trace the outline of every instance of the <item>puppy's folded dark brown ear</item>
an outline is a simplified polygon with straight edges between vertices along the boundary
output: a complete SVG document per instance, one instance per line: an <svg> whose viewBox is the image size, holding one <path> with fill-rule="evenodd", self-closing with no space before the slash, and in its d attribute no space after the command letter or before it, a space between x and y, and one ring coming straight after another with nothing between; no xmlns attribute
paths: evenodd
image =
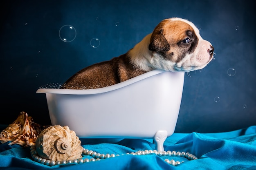
<svg viewBox="0 0 256 170"><path fill-rule="evenodd" d="M158 33L153 33L150 38L150 44L148 45L150 51L169 51L170 44L163 35L163 29Z"/></svg>

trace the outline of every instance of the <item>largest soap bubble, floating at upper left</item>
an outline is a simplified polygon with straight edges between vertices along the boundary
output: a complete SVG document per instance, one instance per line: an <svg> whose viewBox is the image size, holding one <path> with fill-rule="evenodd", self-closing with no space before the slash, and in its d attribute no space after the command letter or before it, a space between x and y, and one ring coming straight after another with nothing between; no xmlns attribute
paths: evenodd
<svg viewBox="0 0 256 170"><path fill-rule="evenodd" d="M72 25L64 25L58 31L58 36L64 42L72 42L76 38L76 29Z"/></svg>

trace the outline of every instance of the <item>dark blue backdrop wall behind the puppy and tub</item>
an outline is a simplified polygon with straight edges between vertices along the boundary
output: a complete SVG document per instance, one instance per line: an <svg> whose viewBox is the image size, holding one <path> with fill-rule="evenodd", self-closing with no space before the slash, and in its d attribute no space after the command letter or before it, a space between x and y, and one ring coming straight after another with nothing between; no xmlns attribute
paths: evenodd
<svg viewBox="0 0 256 170"><path fill-rule="evenodd" d="M175 132L256 125L253 1L9 0L0 8L0 124L21 111L50 124L45 95L36 93L40 86L61 84L85 66L126 53L161 20L181 17L198 26L216 55L202 71L185 74ZM76 37L64 25L72 25ZM59 32L74 40L62 41Z"/></svg>

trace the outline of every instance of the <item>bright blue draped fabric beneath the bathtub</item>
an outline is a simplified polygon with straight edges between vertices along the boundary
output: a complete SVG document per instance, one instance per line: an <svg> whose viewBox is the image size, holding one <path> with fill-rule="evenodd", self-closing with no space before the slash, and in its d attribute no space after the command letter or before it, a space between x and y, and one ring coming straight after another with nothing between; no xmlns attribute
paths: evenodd
<svg viewBox="0 0 256 170"><path fill-rule="evenodd" d="M105 143L103 143L105 141ZM107 142L106 142L107 141ZM84 148L97 153L126 154L137 150L153 150L152 139L81 139ZM8 142L9 143L9 142ZM31 160L29 148L0 144L0 169L8 170L256 170L256 126L222 133L174 133L164 142L165 150L185 151L199 159L150 155L121 155L97 162L45 166ZM90 158L90 156L86 156ZM85 158L85 157L84 157ZM184 161L171 166L164 159Z"/></svg>

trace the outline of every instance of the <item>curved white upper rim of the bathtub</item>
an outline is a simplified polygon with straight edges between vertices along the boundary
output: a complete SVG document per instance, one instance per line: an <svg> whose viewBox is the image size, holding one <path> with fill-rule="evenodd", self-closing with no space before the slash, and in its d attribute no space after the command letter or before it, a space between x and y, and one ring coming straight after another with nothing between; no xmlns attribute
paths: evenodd
<svg viewBox="0 0 256 170"><path fill-rule="evenodd" d="M171 72L173 74L184 74L183 72L172 72L172 71L164 71L160 69L156 69L153 71L146 72L144 74L138 75L131 79L128 79L124 82L113 84L111 86L95 88L95 89L60 89L60 88L39 88L36 93L52 93L52 94L67 94L67 95L91 95L91 94L99 94L106 93L109 91L114 91L116 89L128 86L135 82L139 82L142 79L146 79L153 75L157 75L164 72Z"/></svg>

